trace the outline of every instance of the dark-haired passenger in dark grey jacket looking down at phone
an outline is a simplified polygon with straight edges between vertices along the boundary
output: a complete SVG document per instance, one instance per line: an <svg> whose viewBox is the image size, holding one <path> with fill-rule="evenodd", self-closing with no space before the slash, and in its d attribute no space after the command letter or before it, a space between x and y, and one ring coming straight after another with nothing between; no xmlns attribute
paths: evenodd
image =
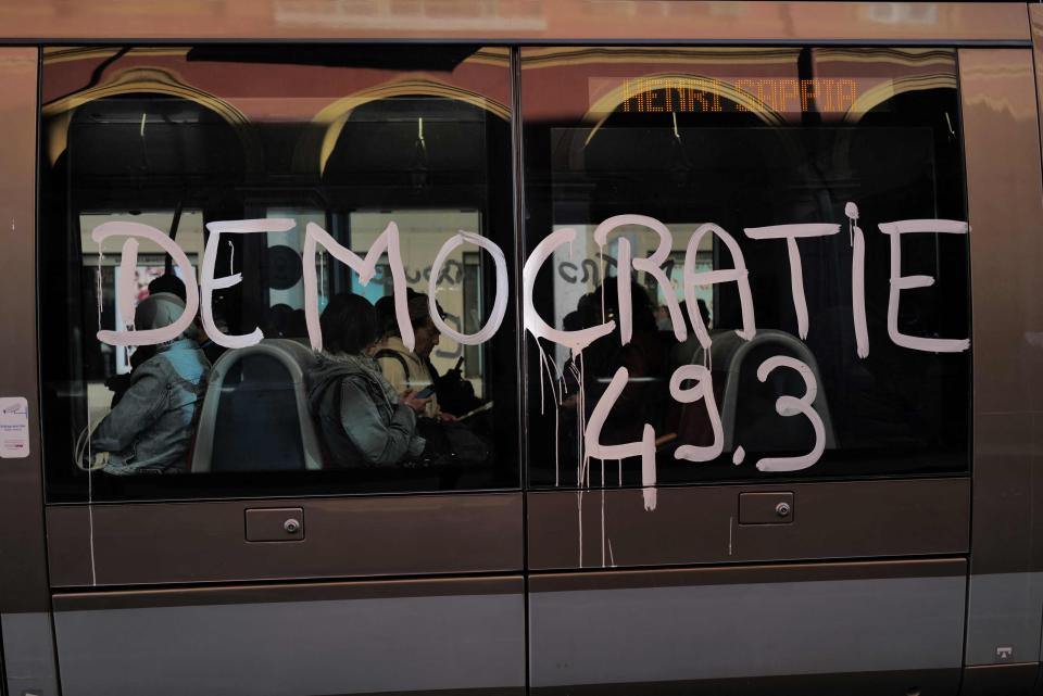
<svg viewBox="0 0 1043 696"><path fill-rule="evenodd" d="M328 461L336 467L393 466L420 456L414 410L426 402L395 393L370 357L379 326L365 298L334 296L319 319L325 352L307 374L307 401Z"/></svg>

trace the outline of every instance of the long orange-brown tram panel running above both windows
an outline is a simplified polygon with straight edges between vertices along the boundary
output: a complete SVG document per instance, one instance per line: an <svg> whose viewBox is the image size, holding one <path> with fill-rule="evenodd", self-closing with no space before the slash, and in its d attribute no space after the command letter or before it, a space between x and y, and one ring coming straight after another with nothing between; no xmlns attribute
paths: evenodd
<svg viewBox="0 0 1043 696"><path fill-rule="evenodd" d="M489 11L491 9L491 12ZM474 17L474 14L479 14ZM465 22L465 20L470 20ZM0 39L512 40L512 41L1027 41L1026 5L1015 2L645 2L476 0L424 3L196 2L143 0L75 5L9 4Z"/></svg>

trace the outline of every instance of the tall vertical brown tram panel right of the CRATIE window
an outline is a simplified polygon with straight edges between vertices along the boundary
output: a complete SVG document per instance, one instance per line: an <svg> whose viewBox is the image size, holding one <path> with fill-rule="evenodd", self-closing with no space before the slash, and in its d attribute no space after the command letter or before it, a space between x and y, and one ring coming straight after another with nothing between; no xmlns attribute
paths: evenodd
<svg viewBox="0 0 1043 696"><path fill-rule="evenodd" d="M1029 342L1043 326L1043 186L1032 55L964 49L959 68L976 346L965 659L968 666L1035 662L1043 597L1035 385L1043 362ZM987 681L984 674L976 679Z"/></svg>

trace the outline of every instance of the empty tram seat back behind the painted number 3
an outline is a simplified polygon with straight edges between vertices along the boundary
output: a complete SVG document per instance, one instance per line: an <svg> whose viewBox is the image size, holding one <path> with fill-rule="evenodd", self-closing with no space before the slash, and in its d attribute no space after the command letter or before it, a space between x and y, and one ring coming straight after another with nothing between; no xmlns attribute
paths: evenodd
<svg viewBox="0 0 1043 696"><path fill-rule="evenodd" d="M826 448L831 450L837 446L829 403L822 389L818 362L803 341L791 333L775 329L757 329L756 336L750 341L743 340L731 330L714 331L711 339L713 341L711 345L711 368L714 376L714 393L718 400L720 420L724 426L725 452L734 451L737 440L746 450L789 450L793 444L790 436L795 431L792 428L757 427L758 422L778 423L777 420L774 420L776 416L775 398L770 403L751 403L752 390L749 389L749 380L757 380L756 370L765 359L766 355L764 354L766 352L772 355L795 357L810 368L812 375L815 377L815 383L818 385L818 392L812 402L812 406L822 419L826 431ZM696 347L691 362L702 364L703 359L702 347ZM783 376L783 374L790 375ZM803 395L803 380L793 374L793 370L780 369L778 372L772 372L772 377L775 375L782 376L782 379L793 380L792 389L787 384L784 391L787 395L796 397ZM742 382L747 383L746 388L741 388ZM778 395L781 396L782 393ZM765 418L765 416L768 418ZM737 429L742 431L738 439L736 436Z"/></svg>

